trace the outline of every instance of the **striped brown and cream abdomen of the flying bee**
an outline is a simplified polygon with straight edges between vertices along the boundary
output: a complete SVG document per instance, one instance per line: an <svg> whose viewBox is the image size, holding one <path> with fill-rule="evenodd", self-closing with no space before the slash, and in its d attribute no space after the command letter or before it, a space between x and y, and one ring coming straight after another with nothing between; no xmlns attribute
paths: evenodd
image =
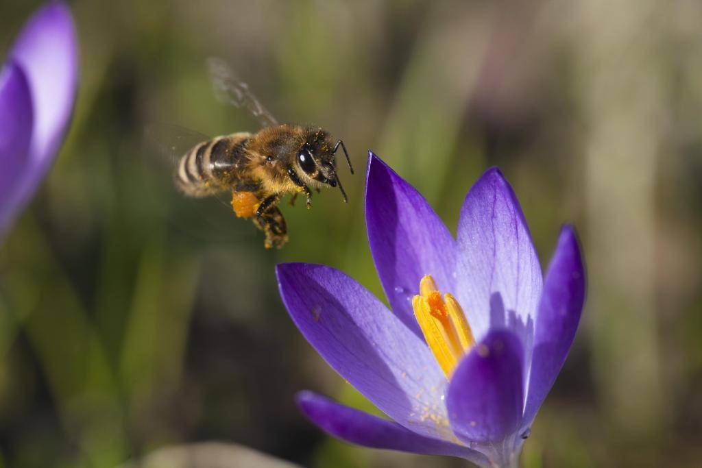
<svg viewBox="0 0 702 468"><path fill-rule="evenodd" d="M188 196L208 196L230 187L239 178L250 136L234 133L195 145L178 161L176 187Z"/></svg>

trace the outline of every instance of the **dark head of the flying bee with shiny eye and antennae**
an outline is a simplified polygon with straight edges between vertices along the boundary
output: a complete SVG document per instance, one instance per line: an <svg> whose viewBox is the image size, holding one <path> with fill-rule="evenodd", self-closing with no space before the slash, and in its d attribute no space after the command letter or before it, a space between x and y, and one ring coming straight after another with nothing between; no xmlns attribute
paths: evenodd
<svg viewBox="0 0 702 468"><path fill-rule="evenodd" d="M340 141L340 140L339 140ZM336 173L336 149L343 143L338 142L332 145L329 135L322 130L311 133L303 145L298 150L296 164L300 172L305 174L313 185L336 187L338 185L344 201L348 201L346 193L341 185L341 181ZM346 154L346 149L344 148ZM346 154L348 161L348 154ZM353 168L349 161L349 168L353 173ZM315 183L316 182L316 183Z"/></svg>

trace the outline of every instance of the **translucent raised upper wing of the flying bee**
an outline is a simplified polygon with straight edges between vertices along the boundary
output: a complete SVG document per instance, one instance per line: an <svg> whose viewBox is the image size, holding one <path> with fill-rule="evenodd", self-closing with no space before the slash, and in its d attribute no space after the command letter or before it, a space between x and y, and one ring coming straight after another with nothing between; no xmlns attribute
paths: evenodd
<svg viewBox="0 0 702 468"><path fill-rule="evenodd" d="M220 58L208 58L207 67L210 70L218 100L236 107L244 107L264 127L274 127L279 124L275 117L263 107L258 98L253 95L249 85L239 80L227 62Z"/></svg>

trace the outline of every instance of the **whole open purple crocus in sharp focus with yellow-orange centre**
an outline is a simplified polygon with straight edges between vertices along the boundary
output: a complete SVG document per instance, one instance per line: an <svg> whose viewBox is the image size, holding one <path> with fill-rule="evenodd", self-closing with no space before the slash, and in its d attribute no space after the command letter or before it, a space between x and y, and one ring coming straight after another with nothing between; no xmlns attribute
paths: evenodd
<svg viewBox="0 0 702 468"><path fill-rule="evenodd" d="M288 263L277 276L307 341L392 420L312 392L298 395L303 413L362 446L515 466L583 309L573 228L563 227L544 278L498 169L468 192L453 239L423 196L372 153L366 225L392 312L331 267Z"/></svg>

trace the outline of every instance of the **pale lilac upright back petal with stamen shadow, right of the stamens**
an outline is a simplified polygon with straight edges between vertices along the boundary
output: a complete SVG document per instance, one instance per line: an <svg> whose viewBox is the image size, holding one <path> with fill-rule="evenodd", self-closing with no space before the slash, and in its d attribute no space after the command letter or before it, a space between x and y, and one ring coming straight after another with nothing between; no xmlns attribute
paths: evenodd
<svg viewBox="0 0 702 468"><path fill-rule="evenodd" d="M522 208L499 169L486 171L465 196L457 237L456 295L475 337L510 328L528 364L543 279Z"/></svg>

